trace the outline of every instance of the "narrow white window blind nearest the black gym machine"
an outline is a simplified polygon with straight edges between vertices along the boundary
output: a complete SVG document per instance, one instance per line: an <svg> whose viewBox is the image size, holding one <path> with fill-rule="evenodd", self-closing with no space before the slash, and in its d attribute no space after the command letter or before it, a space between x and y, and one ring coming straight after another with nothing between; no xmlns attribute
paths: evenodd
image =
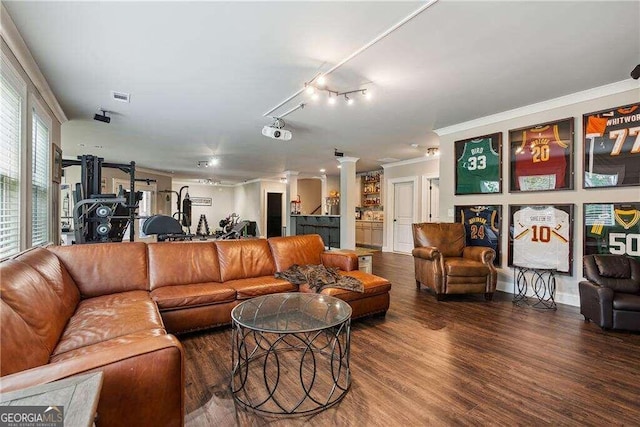
<svg viewBox="0 0 640 427"><path fill-rule="evenodd" d="M49 242L49 128L33 111L31 245Z"/></svg>

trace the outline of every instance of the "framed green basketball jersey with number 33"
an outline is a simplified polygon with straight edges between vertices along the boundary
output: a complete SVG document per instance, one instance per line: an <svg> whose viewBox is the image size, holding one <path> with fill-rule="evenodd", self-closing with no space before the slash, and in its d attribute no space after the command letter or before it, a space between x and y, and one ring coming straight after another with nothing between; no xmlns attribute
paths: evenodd
<svg viewBox="0 0 640 427"><path fill-rule="evenodd" d="M456 194L502 193L502 133L455 142Z"/></svg>

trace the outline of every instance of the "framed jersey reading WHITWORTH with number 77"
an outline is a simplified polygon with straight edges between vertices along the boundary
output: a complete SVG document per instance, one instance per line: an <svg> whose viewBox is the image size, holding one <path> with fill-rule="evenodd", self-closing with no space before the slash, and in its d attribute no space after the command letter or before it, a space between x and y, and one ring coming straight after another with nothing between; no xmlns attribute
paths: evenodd
<svg viewBox="0 0 640 427"><path fill-rule="evenodd" d="M583 188L640 185L640 103L582 116Z"/></svg>

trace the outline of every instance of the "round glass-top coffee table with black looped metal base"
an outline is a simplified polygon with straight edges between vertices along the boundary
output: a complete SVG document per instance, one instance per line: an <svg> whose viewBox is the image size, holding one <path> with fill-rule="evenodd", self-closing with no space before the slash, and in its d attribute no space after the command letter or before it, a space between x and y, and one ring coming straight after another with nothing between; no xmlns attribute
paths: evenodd
<svg viewBox="0 0 640 427"><path fill-rule="evenodd" d="M351 386L351 307L321 294L280 293L231 312L231 391L263 415L309 415L338 403Z"/></svg>

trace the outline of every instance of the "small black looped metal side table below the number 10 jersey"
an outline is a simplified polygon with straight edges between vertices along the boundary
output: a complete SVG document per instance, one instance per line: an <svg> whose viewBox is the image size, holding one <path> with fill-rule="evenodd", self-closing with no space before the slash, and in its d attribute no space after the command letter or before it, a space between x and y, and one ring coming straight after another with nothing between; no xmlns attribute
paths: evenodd
<svg viewBox="0 0 640 427"><path fill-rule="evenodd" d="M556 277L552 269L514 267L513 303L540 310L556 310ZM531 289L533 295L528 296Z"/></svg>

